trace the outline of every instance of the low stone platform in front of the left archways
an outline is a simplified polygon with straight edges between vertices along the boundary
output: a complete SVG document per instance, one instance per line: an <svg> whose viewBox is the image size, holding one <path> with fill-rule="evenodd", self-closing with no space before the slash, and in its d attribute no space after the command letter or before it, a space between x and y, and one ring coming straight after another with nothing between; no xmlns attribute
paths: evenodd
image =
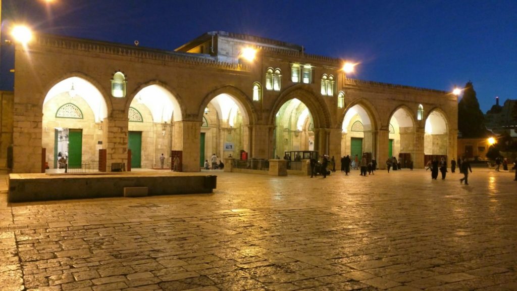
<svg viewBox="0 0 517 291"><path fill-rule="evenodd" d="M212 193L217 176L175 172L10 174L9 202L123 197L124 188L147 187L148 195Z"/></svg>

